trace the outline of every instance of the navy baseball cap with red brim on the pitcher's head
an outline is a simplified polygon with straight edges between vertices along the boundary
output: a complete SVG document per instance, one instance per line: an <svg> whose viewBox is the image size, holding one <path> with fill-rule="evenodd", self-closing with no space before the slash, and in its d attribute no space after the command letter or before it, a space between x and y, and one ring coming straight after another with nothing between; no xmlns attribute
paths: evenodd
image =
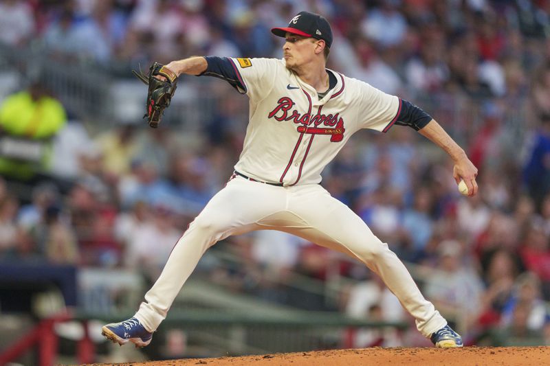
<svg viewBox="0 0 550 366"><path fill-rule="evenodd" d="M332 45L331 25L327 19L315 13L299 12L290 19L288 27L273 28L271 32L283 38L287 32L298 34L298 36L313 37L325 41L329 48Z"/></svg>

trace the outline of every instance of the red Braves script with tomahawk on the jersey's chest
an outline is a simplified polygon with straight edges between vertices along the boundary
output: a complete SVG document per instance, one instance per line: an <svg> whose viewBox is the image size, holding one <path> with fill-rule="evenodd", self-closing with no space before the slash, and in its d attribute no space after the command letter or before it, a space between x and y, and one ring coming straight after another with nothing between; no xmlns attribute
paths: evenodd
<svg viewBox="0 0 550 366"><path fill-rule="evenodd" d="M277 121L293 121L295 124L300 124L296 128L300 133L310 133L313 135L331 135L332 142L340 142L344 137L344 120L339 113L332 114L316 114L300 113L296 109L292 109L294 103L291 98L283 97L277 101L277 106L271 111L267 117L274 118ZM319 126L329 126L333 128L319 128ZM311 126L311 127L310 127Z"/></svg>

